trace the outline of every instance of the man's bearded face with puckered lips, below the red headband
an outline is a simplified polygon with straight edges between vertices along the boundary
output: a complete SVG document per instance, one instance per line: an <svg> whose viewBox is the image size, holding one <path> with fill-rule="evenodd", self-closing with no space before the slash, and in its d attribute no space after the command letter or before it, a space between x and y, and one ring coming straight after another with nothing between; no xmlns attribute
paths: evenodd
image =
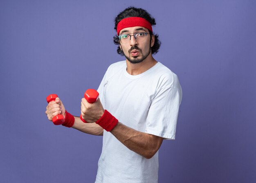
<svg viewBox="0 0 256 183"><path fill-rule="evenodd" d="M148 33L143 42L139 42L134 38L134 33L146 32ZM150 42L150 34L148 29L144 27L128 27L122 29L119 35L130 34L131 38L128 36L128 42L120 42L120 48L124 52L124 56L131 63L139 63L145 60L149 55L151 55L151 47L154 45L155 37L152 36Z"/></svg>

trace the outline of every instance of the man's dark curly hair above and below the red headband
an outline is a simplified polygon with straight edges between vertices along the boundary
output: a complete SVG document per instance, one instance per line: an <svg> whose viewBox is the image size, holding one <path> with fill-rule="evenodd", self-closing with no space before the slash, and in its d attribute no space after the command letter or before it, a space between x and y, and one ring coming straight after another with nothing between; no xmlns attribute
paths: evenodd
<svg viewBox="0 0 256 183"><path fill-rule="evenodd" d="M115 18L115 28L114 29L117 31L117 24L124 18L128 18L128 17L141 17L141 18L148 20L148 22L150 22L151 25L156 25L155 18L153 18L146 10L141 9L141 8L128 7L124 11L121 11ZM150 40L151 40L153 32L151 32L150 30L148 30L148 31L149 31ZM152 54L156 54L161 45L161 42L158 39L158 34L154 34L154 36L155 36L155 43L154 43L153 47L151 47ZM119 42L119 37L117 35L114 36L114 43L115 43L115 45L118 45L117 53L120 54L121 56L124 56L124 52L119 47L120 42Z"/></svg>

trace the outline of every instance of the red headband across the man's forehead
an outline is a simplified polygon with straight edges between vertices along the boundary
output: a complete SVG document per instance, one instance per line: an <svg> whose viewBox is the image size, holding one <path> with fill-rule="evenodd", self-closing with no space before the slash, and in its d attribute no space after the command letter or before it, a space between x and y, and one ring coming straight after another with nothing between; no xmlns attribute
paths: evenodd
<svg viewBox="0 0 256 183"><path fill-rule="evenodd" d="M141 17L128 17L128 18L124 18L123 20L118 22L117 35L119 35L119 32L124 28L136 27L136 26L145 27L148 30L150 30L151 32L153 32L152 25L150 24L150 22L148 22L148 20L141 18Z"/></svg>

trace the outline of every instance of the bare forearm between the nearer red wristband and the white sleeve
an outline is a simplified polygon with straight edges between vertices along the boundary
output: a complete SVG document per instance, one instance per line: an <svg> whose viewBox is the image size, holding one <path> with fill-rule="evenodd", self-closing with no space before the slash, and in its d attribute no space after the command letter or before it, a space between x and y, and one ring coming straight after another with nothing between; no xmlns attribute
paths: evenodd
<svg viewBox="0 0 256 183"><path fill-rule="evenodd" d="M162 137L139 132L120 122L110 132L130 150L148 159L155 155L163 141Z"/></svg>

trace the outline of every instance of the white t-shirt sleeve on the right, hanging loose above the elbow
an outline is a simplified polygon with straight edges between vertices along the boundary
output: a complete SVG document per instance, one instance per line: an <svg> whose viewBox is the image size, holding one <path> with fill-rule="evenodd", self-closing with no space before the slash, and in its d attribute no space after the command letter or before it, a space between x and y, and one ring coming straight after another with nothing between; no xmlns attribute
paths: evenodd
<svg viewBox="0 0 256 183"><path fill-rule="evenodd" d="M181 88L159 89L148 111L146 133L174 140L181 98Z"/></svg>

